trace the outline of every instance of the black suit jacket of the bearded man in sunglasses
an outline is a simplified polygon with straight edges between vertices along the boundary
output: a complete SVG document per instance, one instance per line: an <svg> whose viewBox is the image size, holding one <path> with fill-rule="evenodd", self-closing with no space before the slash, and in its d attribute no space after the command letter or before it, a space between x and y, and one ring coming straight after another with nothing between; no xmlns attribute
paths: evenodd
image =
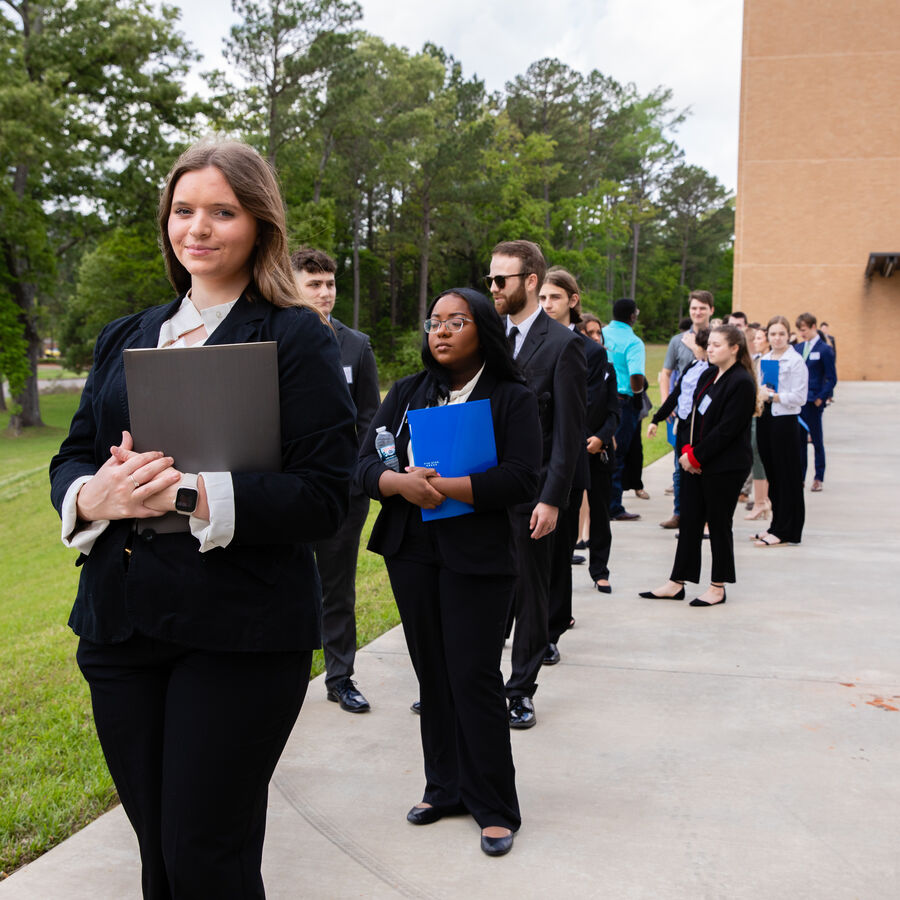
<svg viewBox="0 0 900 900"><path fill-rule="evenodd" d="M541 310L528 329L516 362L538 398L543 458L537 499L565 507L586 434L584 342Z"/></svg>

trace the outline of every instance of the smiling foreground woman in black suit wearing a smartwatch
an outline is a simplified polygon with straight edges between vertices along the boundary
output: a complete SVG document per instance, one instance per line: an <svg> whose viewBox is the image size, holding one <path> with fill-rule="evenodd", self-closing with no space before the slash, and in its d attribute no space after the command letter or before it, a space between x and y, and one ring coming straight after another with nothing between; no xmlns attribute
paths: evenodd
<svg viewBox="0 0 900 900"><path fill-rule="evenodd" d="M319 646L309 543L347 512L353 403L334 333L297 293L278 184L255 150L185 151L159 227L178 299L103 329L50 464L63 540L81 551L69 625L144 897L261 898L269 779ZM183 473L165 447L134 452L123 350L256 341L278 345L280 472ZM137 528L173 510L190 530Z"/></svg>

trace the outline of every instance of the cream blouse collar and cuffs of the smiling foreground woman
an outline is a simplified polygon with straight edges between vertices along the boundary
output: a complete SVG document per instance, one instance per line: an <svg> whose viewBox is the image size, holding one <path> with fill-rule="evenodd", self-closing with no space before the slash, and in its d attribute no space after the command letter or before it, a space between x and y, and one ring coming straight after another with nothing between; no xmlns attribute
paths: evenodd
<svg viewBox="0 0 900 900"><path fill-rule="evenodd" d="M218 306L198 310L191 302L190 291L181 301L175 315L163 322L159 329L157 349L170 347L187 347L184 335L201 325L206 326L206 337L192 347L202 347L210 335L225 320L238 298ZM804 366L804 368L806 368ZM206 489L206 500L209 504L209 520L190 516L191 534L200 542L200 552L205 553L213 547L227 547L234 537L234 484L230 472L198 472L203 476L203 487ZM109 527L109 519L97 519L78 528L77 500L82 485L91 480L90 475L76 478L69 485L62 505L62 542L66 547L74 547L87 556L93 549L97 538Z"/></svg>

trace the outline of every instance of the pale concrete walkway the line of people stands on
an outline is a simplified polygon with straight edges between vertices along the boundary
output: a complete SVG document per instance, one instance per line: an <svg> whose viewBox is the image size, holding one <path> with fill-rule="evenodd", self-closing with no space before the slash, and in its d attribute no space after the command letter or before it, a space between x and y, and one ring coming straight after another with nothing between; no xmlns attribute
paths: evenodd
<svg viewBox="0 0 900 900"><path fill-rule="evenodd" d="M512 735L509 856L484 856L471 818L405 821L423 775L399 629L358 655L372 713L313 682L272 783L268 896L900 896L898 412L900 384L839 386L803 544L754 548L739 510L740 581L713 609L637 597L675 549L657 525L671 457L646 470L651 500L627 500L643 518L613 526L613 594L575 569L576 627L537 727ZM0 900L139 896L121 809L0 883Z"/></svg>

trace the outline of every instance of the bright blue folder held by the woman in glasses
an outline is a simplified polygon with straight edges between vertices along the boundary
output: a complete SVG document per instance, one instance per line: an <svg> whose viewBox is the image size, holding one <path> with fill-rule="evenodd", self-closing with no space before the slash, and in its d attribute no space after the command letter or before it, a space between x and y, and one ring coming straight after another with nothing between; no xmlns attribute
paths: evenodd
<svg viewBox="0 0 900 900"><path fill-rule="evenodd" d="M411 409L409 435L417 466L448 478L485 472L497 465L491 401ZM423 509L422 521L449 519L475 512L475 507L448 497L435 509Z"/></svg>

